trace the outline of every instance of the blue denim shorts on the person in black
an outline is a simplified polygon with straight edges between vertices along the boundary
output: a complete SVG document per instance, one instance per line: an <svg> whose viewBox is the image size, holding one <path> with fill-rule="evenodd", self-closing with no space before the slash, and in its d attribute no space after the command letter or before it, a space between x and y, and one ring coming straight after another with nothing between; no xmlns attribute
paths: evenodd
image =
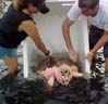
<svg viewBox="0 0 108 104"><path fill-rule="evenodd" d="M4 58L4 57L12 57L12 58L16 58L16 49L9 49L9 48L3 48L0 47L0 58Z"/></svg>

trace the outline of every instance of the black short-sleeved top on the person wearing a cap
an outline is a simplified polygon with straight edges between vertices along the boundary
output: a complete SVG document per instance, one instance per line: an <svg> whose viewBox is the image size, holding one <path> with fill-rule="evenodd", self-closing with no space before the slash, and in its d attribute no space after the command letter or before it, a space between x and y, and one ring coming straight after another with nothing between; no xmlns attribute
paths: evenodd
<svg viewBox="0 0 108 104"><path fill-rule="evenodd" d="M17 48L21 41L27 37L27 34L19 31L17 27L23 21L27 20L33 21L33 17L21 11L16 11L11 4L0 20L0 46L4 48Z"/></svg>

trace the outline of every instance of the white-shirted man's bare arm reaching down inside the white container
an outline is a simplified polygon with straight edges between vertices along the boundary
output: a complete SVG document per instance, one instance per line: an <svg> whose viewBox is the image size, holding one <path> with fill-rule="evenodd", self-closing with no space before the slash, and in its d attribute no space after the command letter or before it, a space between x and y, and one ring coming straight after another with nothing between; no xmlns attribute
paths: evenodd
<svg viewBox="0 0 108 104"><path fill-rule="evenodd" d="M69 55L70 58L73 62L77 61L77 53L74 51L73 46L71 43L71 38L70 38L70 26L73 24L74 22L70 21L69 17L65 17L63 24L62 24L62 34L63 34L63 38L69 51Z"/></svg>

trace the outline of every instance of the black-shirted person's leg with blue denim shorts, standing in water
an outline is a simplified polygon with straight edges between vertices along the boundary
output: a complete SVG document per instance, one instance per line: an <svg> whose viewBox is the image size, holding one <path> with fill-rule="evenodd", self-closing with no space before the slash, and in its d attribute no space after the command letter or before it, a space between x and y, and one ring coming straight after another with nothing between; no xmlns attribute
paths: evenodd
<svg viewBox="0 0 108 104"><path fill-rule="evenodd" d="M7 89L14 82L14 75L17 69L16 49L7 49L0 47L0 57L8 66L8 75L0 80L2 89Z"/></svg>

